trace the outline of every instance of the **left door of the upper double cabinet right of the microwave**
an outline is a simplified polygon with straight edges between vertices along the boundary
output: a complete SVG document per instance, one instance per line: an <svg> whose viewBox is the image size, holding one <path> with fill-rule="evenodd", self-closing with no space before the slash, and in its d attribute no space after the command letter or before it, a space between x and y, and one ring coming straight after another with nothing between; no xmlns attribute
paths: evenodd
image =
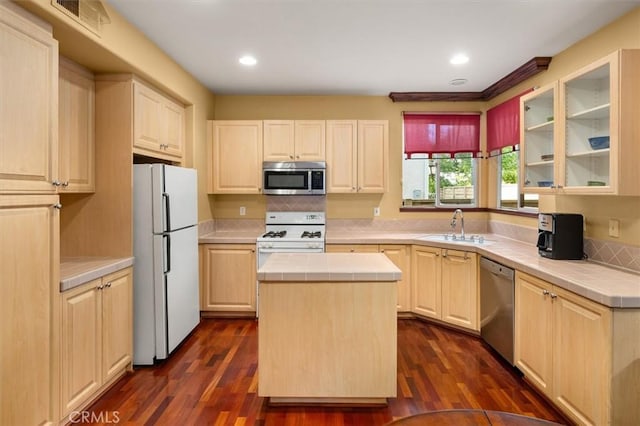
<svg viewBox="0 0 640 426"><path fill-rule="evenodd" d="M358 122L327 120L327 192L356 192Z"/></svg>

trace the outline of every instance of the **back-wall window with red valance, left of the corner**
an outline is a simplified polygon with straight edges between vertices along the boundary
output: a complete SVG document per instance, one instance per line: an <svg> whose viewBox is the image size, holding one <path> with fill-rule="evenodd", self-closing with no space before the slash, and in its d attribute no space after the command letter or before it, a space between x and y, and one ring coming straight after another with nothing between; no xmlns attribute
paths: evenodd
<svg viewBox="0 0 640 426"><path fill-rule="evenodd" d="M478 114L404 114L403 206L475 207Z"/></svg>

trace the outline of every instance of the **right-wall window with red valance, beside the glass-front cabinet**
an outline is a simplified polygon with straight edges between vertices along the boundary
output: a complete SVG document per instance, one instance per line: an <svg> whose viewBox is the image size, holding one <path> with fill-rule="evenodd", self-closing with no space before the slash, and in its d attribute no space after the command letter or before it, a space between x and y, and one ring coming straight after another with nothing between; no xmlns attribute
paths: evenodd
<svg viewBox="0 0 640 426"><path fill-rule="evenodd" d="M537 208L537 194L520 194L518 187L521 93L487 111L487 151L498 156L498 200L501 209Z"/></svg>

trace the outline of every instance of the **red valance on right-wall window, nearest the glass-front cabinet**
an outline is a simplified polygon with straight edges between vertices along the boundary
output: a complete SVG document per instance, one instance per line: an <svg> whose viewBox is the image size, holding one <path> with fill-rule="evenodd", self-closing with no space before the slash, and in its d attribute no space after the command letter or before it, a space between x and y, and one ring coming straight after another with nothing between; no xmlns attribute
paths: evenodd
<svg viewBox="0 0 640 426"><path fill-rule="evenodd" d="M499 154L502 148L520 143L520 93L487 111L487 152Z"/></svg>

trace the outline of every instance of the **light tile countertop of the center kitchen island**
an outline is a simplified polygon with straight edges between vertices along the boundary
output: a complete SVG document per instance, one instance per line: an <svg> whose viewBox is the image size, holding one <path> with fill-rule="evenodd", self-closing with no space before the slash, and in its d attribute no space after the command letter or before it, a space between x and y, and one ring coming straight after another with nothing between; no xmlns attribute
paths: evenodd
<svg viewBox="0 0 640 426"><path fill-rule="evenodd" d="M258 281L398 281L402 272L383 253L274 253Z"/></svg>

